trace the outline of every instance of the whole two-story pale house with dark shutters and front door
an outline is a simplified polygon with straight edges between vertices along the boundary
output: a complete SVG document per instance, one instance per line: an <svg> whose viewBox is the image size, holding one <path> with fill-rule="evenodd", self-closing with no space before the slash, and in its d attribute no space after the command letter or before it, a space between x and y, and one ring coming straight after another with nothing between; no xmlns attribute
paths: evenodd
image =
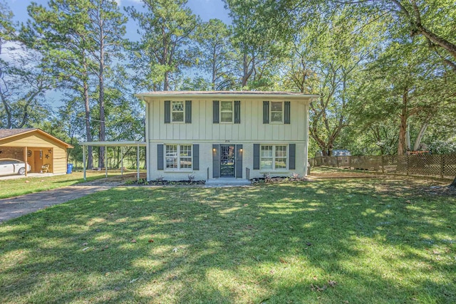
<svg viewBox="0 0 456 304"><path fill-rule="evenodd" d="M145 101L147 180L301 177L309 103L283 92L152 92Z"/></svg>

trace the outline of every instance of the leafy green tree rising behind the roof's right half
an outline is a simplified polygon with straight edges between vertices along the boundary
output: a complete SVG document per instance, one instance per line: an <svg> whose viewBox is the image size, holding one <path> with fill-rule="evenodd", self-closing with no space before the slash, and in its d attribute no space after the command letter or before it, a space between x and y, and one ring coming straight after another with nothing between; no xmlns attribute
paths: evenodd
<svg viewBox="0 0 456 304"><path fill-rule="evenodd" d="M284 15L289 1L224 0L233 20L232 45L242 90L270 88L278 65L286 56L289 26ZM254 18L252 18L254 16Z"/></svg>

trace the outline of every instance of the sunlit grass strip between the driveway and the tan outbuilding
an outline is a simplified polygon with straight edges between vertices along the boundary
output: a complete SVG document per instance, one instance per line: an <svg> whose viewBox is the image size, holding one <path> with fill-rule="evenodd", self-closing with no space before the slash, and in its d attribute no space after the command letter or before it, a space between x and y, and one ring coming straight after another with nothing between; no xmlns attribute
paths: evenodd
<svg viewBox="0 0 456 304"><path fill-rule="evenodd" d="M108 177L120 175L120 171L108 172ZM87 181L102 179L104 171L86 172ZM51 177L22 177L20 179L0 179L0 199L19 196L44 190L56 189L84 182L83 172L54 175Z"/></svg>

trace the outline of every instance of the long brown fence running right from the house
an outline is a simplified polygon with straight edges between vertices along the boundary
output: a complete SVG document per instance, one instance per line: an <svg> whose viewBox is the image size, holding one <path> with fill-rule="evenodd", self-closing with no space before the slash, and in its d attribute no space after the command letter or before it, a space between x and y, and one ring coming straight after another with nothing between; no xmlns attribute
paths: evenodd
<svg viewBox="0 0 456 304"><path fill-rule="evenodd" d="M311 167L365 169L383 173L455 178L456 154L326 156L309 159Z"/></svg>

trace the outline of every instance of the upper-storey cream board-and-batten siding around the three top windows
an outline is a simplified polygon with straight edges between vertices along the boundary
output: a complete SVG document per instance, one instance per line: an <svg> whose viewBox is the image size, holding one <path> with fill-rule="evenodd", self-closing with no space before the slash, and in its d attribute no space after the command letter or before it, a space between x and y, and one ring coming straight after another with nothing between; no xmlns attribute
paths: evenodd
<svg viewBox="0 0 456 304"><path fill-rule="evenodd" d="M148 117L150 140L199 140L222 141L241 140L246 142L264 141L305 141L304 129L309 112L304 101L291 102L291 123L289 125L264 124L263 100L240 100L241 123L212 122L212 99L192 100L192 123L172 122L165 124L165 100L150 103ZM181 101L175 98L172 101ZM224 101L217 98L219 101ZM232 101L233 99L228 101Z"/></svg>

